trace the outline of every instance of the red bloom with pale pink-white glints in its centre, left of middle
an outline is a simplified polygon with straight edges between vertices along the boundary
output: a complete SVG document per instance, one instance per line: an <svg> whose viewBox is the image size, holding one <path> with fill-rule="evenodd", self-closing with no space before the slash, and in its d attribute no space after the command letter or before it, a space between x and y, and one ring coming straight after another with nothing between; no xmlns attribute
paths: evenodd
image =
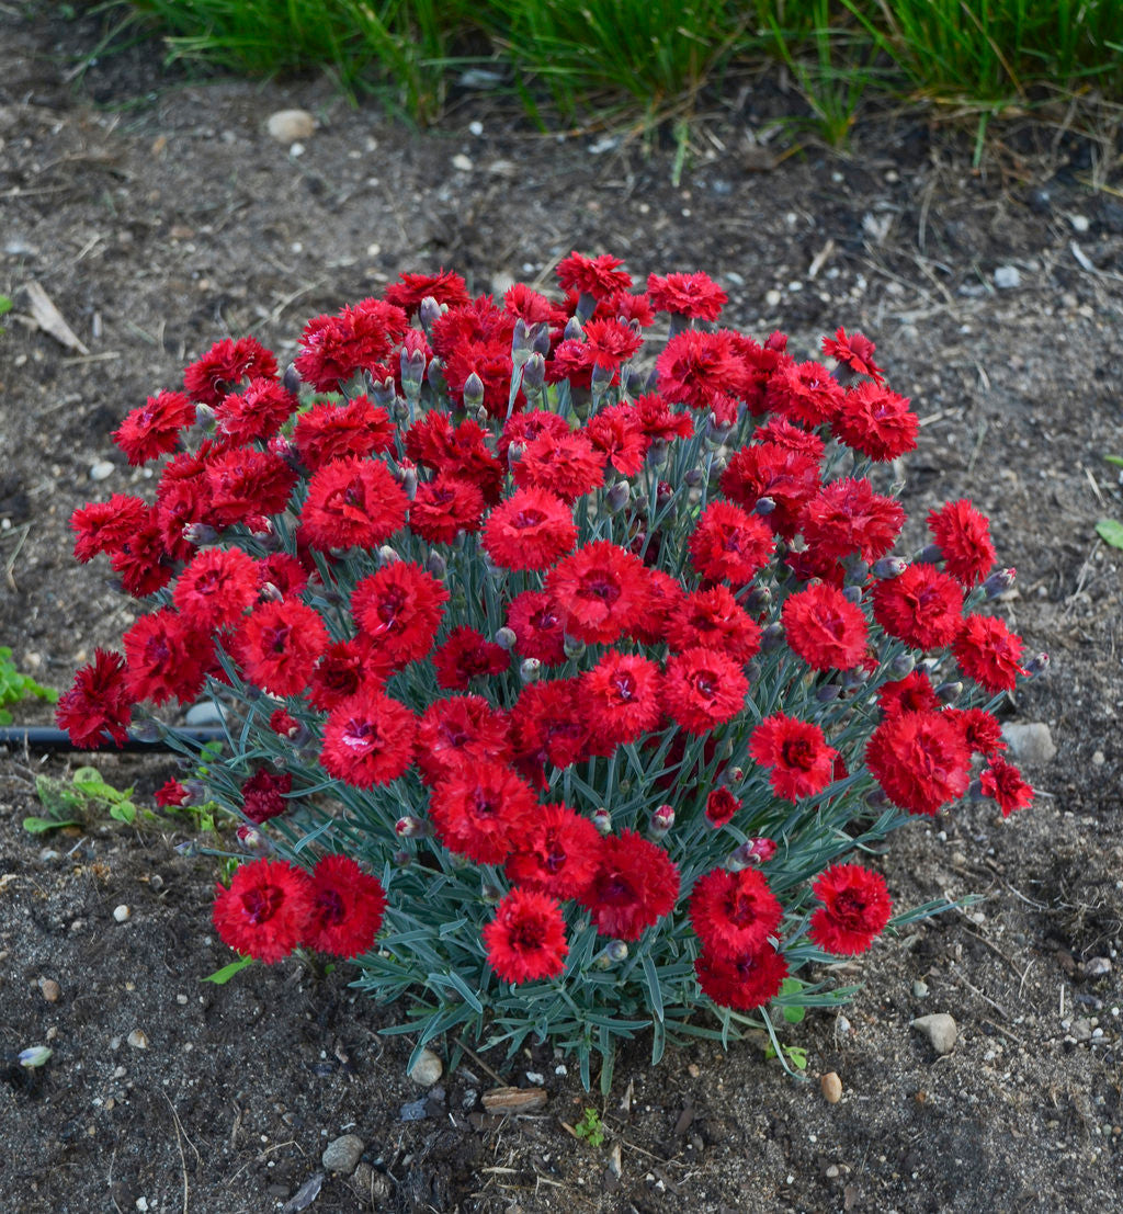
<svg viewBox="0 0 1123 1214"><path fill-rule="evenodd" d="M413 761L416 720L378 687L361 687L324 722L319 765L352 788L388 784Z"/></svg>

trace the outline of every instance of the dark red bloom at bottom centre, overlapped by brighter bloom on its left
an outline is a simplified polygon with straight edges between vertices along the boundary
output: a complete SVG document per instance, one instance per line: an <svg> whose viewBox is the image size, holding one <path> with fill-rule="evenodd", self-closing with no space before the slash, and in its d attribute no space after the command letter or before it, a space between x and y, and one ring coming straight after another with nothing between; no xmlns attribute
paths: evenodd
<svg viewBox="0 0 1123 1214"><path fill-rule="evenodd" d="M670 856L635 830L622 830L601 839L600 868L578 901L600 935L639 940L677 897L679 869Z"/></svg>

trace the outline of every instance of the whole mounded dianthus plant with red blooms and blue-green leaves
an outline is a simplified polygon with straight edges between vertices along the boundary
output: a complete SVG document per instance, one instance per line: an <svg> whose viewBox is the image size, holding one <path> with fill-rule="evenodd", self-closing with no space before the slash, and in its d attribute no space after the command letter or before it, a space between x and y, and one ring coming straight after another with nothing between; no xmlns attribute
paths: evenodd
<svg viewBox="0 0 1123 1214"><path fill-rule="evenodd" d="M867 337L800 362L705 274L557 277L404 274L283 374L220 341L125 416L155 499L78 510L75 552L152 609L58 716L95 745L211 697L221 760L160 798L242 821L227 943L355 958L418 1049L533 1034L607 1085L620 1038L843 997L827 963L894 921L868 853L1030 801L992 709L1045 659L981 609L1013 571L969 500L895 555L918 421Z"/></svg>

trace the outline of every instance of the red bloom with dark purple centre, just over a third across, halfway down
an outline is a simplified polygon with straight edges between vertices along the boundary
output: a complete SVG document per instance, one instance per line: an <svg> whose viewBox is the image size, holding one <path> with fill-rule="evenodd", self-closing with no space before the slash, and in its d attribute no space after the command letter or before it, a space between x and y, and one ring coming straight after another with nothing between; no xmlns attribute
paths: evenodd
<svg viewBox="0 0 1123 1214"><path fill-rule="evenodd" d="M396 668L429 653L447 602L444 586L409 561L392 561L351 595L359 628Z"/></svg>

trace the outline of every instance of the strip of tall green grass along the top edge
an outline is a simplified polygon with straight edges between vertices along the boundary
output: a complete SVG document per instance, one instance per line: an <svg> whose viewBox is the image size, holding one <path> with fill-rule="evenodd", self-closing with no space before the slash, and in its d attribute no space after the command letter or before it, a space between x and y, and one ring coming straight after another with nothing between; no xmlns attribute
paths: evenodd
<svg viewBox="0 0 1123 1214"><path fill-rule="evenodd" d="M329 69L439 115L467 66L554 120L688 110L733 64L784 63L844 142L867 96L996 113L1123 100L1123 0L109 0L174 58L250 75Z"/></svg>

